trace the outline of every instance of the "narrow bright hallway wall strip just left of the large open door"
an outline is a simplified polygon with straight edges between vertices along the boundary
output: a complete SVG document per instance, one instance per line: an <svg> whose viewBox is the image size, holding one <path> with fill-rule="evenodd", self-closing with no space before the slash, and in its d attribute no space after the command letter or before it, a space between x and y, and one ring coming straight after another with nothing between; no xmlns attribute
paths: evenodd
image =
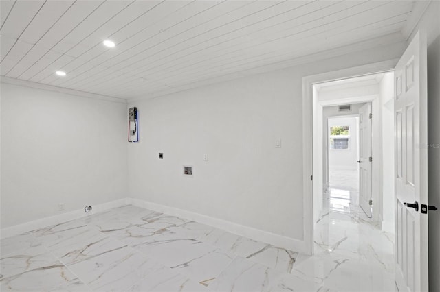
<svg viewBox="0 0 440 292"><path fill-rule="evenodd" d="M394 233L394 73L386 73L380 82L382 106L382 230Z"/></svg>

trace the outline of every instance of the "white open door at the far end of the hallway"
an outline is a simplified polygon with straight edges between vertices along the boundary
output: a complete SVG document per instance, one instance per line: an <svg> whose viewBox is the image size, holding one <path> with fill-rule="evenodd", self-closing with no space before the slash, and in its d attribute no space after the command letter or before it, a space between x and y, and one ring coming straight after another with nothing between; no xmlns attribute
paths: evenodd
<svg viewBox="0 0 440 292"><path fill-rule="evenodd" d="M359 205L371 218L371 103L359 109Z"/></svg>

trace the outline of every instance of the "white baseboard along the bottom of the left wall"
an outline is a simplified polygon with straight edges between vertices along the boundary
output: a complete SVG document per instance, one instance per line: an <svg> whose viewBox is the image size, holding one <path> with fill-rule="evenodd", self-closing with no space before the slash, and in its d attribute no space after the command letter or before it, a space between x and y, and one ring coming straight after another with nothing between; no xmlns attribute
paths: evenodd
<svg viewBox="0 0 440 292"><path fill-rule="evenodd" d="M22 234L25 232L29 232L31 230L36 230L36 229L43 228L46 226L51 226L54 224L63 223L65 221L70 221L70 220L78 219L81 217L89 216L89 215L95 214L97 212L110 210L112 208L118 208L120 206L124 206L127 204L129 204L128 199L126 199L126 198L117 199L115 201L94 205L94 206L92 206L92 210L89 213L84 212L83 209L74 210L72 212L65 212L60 215L46 217L43 219L38 219L38 220L22 223L19 225L8 227L8 228L3 228L0 230L0 234L1 234L0 238L5 239L10 236L19 235L19 234Z"/></svg>

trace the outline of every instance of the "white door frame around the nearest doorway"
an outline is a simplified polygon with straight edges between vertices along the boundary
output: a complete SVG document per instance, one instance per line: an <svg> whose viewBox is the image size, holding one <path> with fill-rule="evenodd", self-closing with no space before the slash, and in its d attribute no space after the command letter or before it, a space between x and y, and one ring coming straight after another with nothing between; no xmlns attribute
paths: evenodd
<svg viewBox="0 0 440 292"><path fill-rule="evenodd" d="M303 77L303 210L304 210L303 250L305 251L306 254L309 255L314 254L314 217L316 216L314 214L314 193L319 191L314 189L314 185L315 188L319 185L322 186L322 167L320 167L320 169L316 169L317 167L314 168L314 153L316 153L316 150L314 151L315 145L314 145L313 121L314 118L317 117L318 109L320 108L320 110L322 110L322 106L327 105L327 101L318 103L317 100L314 100L313 86L314 84L318 84L322 82L331 82L335 80L348 79L351 77L359 77L363 75L371 75L375 73L385 73L385 72L393 71L398 60L399 59L386 60L383 62L376 62L362 66L355 66L349 69L342 69L338 71L331 71L327 73L321 73L317 75L309 75ZM344 99L344 101L351 102L349 101L349 99ZM375 114L374 108L377 109L378 106L380 105L378 99L376 99L376 101L373 99L371 100L371 102L373 104L373 117L374 117ZM322 113L321 113L321 118L322 118ZM376 119L376 121L377 120L378 119ZM320 145L319 149L321 149L322 152L322 145ZM377 158L379 158L379 156L377 156ZM379 165L379 163L375 165ZM374 171L374 167L373 167L373 171ZM376 173L377 173L377 169L376 169ZM375 177L373 177L373 180L374 178ZM322 192L322 187L320 191ZM377 218L373 217L373 219L377 219Z"/></svg>

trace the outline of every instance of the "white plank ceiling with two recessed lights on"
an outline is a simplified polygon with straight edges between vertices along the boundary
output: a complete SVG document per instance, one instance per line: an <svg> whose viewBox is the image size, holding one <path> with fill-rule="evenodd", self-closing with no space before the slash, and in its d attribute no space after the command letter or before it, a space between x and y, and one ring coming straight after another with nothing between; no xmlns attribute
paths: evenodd
<svg viewBox="0 0 440 292"><path fill-rule="evenodd" d="M153 97L401 32L414 4L1 0L1 75L123 99ZM107 39L116 47L104 47Z"/></svg>

